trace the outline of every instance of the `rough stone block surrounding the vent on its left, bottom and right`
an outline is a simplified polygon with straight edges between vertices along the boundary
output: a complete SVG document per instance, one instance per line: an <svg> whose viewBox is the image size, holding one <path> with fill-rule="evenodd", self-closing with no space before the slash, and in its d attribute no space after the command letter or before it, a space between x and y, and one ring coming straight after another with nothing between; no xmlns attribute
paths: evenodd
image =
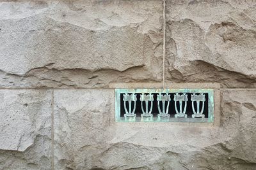
<svg viewBox="0 0 256 170"><path fill-rule="evenodd" d="M114 122L113 90L54 92L56 169L255 169L256 90L221 90L221 125Z"/></svg>

